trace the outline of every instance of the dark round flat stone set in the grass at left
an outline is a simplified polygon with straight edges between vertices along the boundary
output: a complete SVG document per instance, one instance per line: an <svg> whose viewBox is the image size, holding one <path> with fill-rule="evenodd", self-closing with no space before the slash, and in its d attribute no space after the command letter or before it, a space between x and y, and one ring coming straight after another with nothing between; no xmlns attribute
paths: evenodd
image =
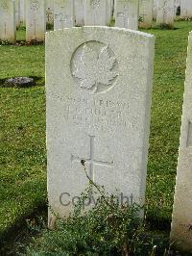
<svg viewBox="0 0 192 256"><path fill-rule="evenodd" d="M14 77L6 80L3 87L7 88L29 88L36 85L33 78L29 77Z"/></svg>

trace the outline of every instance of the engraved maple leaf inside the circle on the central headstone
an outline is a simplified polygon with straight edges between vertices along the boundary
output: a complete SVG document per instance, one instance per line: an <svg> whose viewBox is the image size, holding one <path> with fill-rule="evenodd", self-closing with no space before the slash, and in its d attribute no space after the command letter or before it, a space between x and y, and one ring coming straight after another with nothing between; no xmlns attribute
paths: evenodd
<svg viewBox="0 0 192 256"><path fill-rule="evenodd" d="M81 88L96 92L100 85L108 86L117 77L117 72L113 71L115 63L108 46L98 53L84 44L82 55L74 62L73 75L81 80Z"/></svg>

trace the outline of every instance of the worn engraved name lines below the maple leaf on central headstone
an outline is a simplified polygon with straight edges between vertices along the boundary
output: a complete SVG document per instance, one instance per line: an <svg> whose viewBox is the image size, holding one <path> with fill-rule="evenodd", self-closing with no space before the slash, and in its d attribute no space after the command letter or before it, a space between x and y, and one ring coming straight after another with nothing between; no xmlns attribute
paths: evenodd
<svg viewBox="0 0 192 256"><path fill-rule="evenodd" d="M60 101L62 118L74 125L104 132L135 129L138 126L138 119L132 115L128 102L53 94L51 97ZM129 119L131 115L132 118Z"/></svg>

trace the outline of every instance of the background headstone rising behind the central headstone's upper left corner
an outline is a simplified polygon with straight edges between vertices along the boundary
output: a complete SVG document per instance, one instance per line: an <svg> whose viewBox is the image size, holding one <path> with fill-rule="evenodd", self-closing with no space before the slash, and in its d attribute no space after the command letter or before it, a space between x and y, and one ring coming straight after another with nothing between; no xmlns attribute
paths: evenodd
<svg viewBox="0 0 192 256"><path fill-rule="evenodd" d="M54 30L75 26L73 0L54 0Z"/></svg>

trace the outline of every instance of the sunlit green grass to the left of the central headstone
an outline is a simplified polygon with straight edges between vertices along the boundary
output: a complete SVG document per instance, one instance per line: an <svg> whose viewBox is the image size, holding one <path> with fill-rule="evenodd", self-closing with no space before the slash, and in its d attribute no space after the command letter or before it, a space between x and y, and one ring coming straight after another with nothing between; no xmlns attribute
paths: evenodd
<svg viewBox="0 0 192 256"><path fill-rule="evenodd" d="M1 46L0 81L36 77L33 89L0 89L0 237L46 198L44 46Z"/></svg>

